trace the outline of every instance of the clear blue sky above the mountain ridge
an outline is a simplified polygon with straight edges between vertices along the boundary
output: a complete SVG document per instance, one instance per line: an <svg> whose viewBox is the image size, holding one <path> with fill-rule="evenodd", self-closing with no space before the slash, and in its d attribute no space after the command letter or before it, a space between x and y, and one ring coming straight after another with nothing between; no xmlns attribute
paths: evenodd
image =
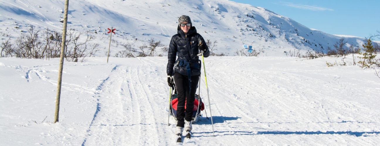
<svg viewBox="0 0 380 146"><path fill-rule="evenodd" d="M369 37L380 31L380 0L232 0L260 6L332 35ZM375 40L379 40L378 38Z"/></svg>

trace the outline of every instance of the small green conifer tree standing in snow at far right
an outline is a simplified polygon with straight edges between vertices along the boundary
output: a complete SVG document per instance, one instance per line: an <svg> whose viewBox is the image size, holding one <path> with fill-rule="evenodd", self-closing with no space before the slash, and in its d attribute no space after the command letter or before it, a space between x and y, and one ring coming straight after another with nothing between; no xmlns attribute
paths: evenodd
<svg viewBox="0 0 380 146"><path fill-rule="evenodd" d="M361 65L361 68L370 68L371 65L375 63L374 59L376 55L374 54L374 46L372 46L371 39L366 40L367 43L363 44L363 53L359 51L359 54L363 55L362 57L359 56L360 60L358 63Z"/></svg>

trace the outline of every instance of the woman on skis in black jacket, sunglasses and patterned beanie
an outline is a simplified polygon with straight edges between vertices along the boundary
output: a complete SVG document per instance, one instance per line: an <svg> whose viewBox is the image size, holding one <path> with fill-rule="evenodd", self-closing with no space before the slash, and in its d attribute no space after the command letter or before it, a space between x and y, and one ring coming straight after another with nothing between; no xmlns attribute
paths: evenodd
<svg viewBox="0 0 380 146"><path fill-rule="evenodd" d="M200 60L198 54L208 57L210 52L205 41L196 32L189 16L182 15L178 20L177 34L173 35L169 44L168 84L176 86L178 95L177 128L175 134L181 136L182 132L192 130L192 114L195 100L195 91L198 86L200 74ZM176 60L176 56L178 56ZM185 115L186 102L186 115ZM179 141L180 142L180 141Z"/></svg>

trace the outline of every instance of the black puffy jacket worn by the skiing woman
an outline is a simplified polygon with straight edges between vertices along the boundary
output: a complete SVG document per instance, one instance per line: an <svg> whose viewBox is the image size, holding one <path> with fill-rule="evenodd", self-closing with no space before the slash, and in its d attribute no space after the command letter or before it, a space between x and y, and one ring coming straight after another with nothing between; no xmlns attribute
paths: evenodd
<svg viewBox="0 0 380 146"><path fill-rule="evenodd" d="M187 75L186 66L178 65L178 63L176 63L176 56L178 55L177 60L198 62L198 54L200 53L198 49L199 41L201 41L206 47L206 51L203 52L203 57L208 57L210 54L209 48L207 47L203 37L199 35L199 33L196 33L195 27L192 26L187 34L185 34L181 29L178 29L177 34L171 37L168 52L168 65L166 66L166 73L169 76L173 75L174 71L177 71L182 75ZM175 67L174 63L176 63ZM191 68L191 75L199 75L199 69L200 68Z"/></svg>

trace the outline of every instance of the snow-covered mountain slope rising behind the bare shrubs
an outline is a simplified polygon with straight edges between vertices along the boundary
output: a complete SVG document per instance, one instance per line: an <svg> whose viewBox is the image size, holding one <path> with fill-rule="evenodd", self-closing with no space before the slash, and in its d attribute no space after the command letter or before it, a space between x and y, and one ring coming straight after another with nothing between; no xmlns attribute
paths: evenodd
<svg viewBox="0 0 380 146"><path fill-rule="evenodd" d="M6 34L17 37L29 25L62 30L64 6L63 0L0 0L1 37L5 38ZM151 38L168 45L181 15L190 16L206 40L218 42L215 52L229 55L234 55L244 44L264 49L266 56L283 56L284 51L294 49L326 52L340 38L354 46L361 46L364 40L309 29L265 8L228 0L70 1L68 29L95 35L102 48L98 56L105 56L103 52L109 41L107 28L117 30L111 54L122 49L119 44L129 43L139 48Z"/></svg>

